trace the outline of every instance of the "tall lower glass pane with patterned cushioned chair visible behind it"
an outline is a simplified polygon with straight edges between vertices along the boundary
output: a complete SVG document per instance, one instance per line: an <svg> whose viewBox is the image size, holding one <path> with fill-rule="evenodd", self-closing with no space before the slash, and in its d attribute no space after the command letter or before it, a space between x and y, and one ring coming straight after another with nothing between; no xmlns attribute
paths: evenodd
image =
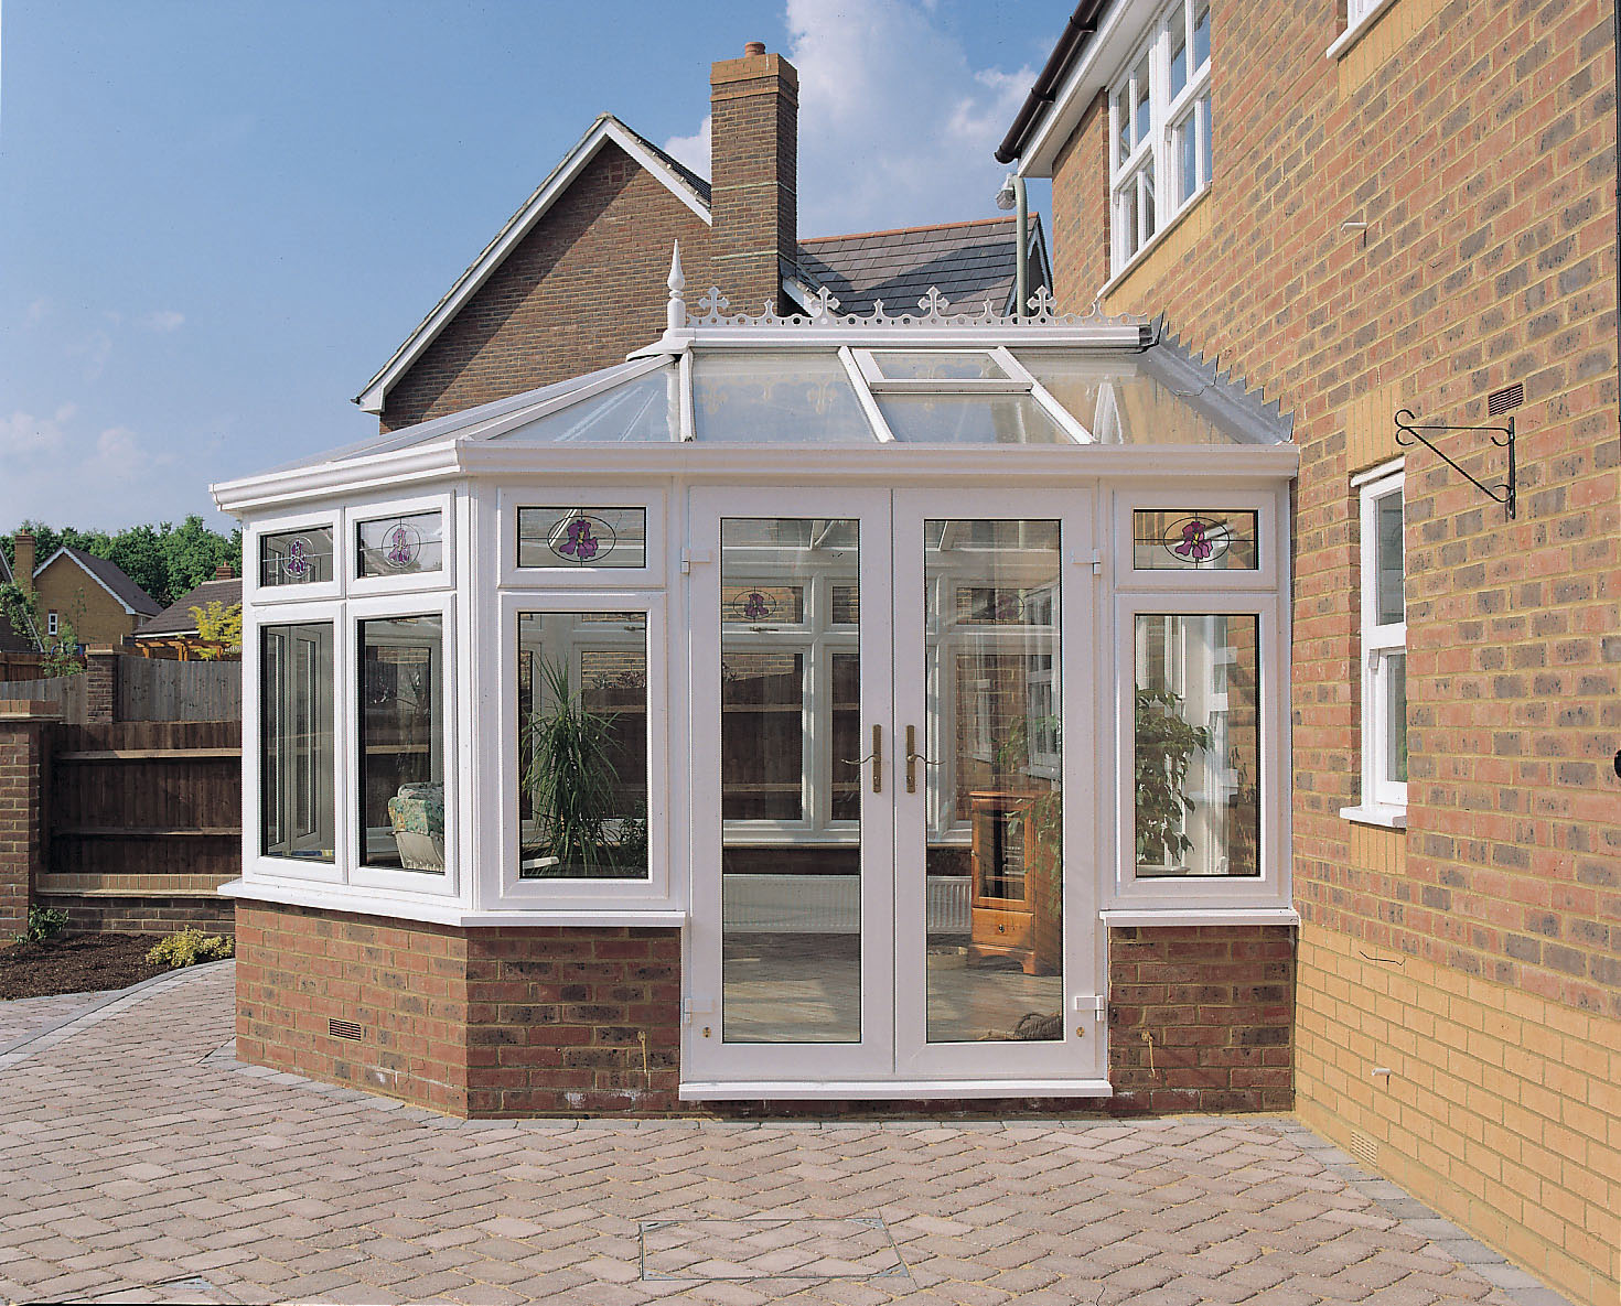
<svg viewBox="0 0 1621 1306"><path fill-rule="evenodd" d="M444 622L360 622L360 864L444 873Z"/></svg>

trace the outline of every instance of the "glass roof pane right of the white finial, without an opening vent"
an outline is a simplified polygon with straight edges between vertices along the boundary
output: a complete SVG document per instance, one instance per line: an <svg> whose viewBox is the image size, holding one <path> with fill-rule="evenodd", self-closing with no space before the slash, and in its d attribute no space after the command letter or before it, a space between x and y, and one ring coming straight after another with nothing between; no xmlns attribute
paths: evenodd
<svg viewBox="0 0 1621 1306"><path fill-rule="evenodd" d="M836 353L692 355L692 437L721 444L870 444Z"/></svg>

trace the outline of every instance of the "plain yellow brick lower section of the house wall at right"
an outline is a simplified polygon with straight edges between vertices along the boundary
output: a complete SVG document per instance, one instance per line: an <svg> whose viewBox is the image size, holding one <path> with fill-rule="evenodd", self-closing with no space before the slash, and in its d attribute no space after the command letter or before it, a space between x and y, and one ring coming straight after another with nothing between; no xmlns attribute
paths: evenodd
<svg viewBox="0 0 1621 1306"><path fill-rule="evenodd" d="M1401 847L1358 826L1352 856ZM1574 1301L1621 1301L1621 1021L1310 922L1298 993L1307 1125Z"/></svg>

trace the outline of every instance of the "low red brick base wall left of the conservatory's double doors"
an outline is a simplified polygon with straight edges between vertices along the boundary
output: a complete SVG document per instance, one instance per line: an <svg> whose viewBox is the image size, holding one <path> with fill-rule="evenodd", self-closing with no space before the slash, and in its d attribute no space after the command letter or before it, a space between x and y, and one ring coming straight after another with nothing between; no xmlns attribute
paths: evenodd
<svg viewBox="0 0 1621 1306"><path fill-rule="evenodd" d="M459 930L243 901L237 1055L462 1116L666 1115L679 974L676 930Z"/></svg>

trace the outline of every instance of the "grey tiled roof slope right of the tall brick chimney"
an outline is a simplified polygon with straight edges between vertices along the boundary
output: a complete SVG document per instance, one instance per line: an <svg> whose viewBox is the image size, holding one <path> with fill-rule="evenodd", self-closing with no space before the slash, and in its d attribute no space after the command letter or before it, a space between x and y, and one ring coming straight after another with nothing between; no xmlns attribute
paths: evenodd
<svg viewBox="0 0 1621 1306"><path fill-rule="evenodd" d="M1015 219L989 217L799 241L799 269L812 285L838 297L840 313L870 313L882 300L890 314L916 313L939 287L953 308L999 313L1012 308ZM1029 292L1049 285L1041 219L1031 217Z"/></svg>

